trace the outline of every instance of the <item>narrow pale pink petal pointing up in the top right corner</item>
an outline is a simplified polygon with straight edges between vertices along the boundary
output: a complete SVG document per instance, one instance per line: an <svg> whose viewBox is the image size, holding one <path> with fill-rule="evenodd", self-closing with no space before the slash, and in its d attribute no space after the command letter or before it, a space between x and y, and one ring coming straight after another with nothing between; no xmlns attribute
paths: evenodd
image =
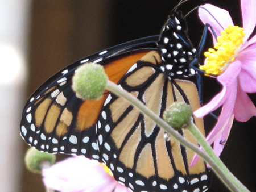
<svg viewBox="0 0 256 192"><path fill-rule="evenodd" d="M243 29L245 31L244 39L247 40L252 34L256 26L256 1L255 0L241 0Z"/></svg>

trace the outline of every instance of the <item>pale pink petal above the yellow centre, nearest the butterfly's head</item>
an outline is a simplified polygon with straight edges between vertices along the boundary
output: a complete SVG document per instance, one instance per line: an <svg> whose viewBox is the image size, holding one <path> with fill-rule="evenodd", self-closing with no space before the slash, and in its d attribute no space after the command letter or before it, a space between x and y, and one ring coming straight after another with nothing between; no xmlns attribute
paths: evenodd
<svg viewBox="0 0 256 192"><path fill-rule="evenodd" d="M205 9L207 9L214 16L215 19L207 11L200 8L199 8L199 18L204 24L209 23L213 27L217 36L220 36L221 31L223 31L224 28L228 27L229 24L233 26L232 18L229 15L229 12L226 11L225 9L221 9L211 4L205 4L203 5L203 7L205 7ZM221 26L216 22L216 20L221 24ZM216 42L214 36L213 36L213 41L214 43Z"/></svg>

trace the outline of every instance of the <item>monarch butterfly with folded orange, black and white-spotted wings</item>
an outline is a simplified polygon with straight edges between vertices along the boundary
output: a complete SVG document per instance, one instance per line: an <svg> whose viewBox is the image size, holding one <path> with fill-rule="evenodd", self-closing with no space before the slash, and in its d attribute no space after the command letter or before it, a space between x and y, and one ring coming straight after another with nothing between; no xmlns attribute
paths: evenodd
<svg viewBox="0 0 256 192"><path fill-rule="evenodd" d="M172 102L200 107L198 63L187 25L177 7L160 36L117 45L85 57L49 78L28 99L20 123L23 139L49 153L68 153L105 163L114 178L133 191L205 191L210 170L203 160L189 168L194 153L124 99L106 91L82 101L71 89L76 69L86 62L104 66L119 84L160 117ZM195 123L204 133L202 119ZM179 131L197 144L187 131Z"/></svg>

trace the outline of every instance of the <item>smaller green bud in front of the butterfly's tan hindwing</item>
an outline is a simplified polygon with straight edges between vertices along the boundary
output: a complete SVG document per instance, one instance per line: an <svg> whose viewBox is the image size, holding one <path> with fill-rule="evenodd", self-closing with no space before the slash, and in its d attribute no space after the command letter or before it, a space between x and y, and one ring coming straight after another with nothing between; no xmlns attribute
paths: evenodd
<svg viewBox="0 0 256 192"><path fill-rule="evenodd" d="M174 102L164 111L163 119L175 130L187 125L193 115L191 107L184 102Z"/></svg>

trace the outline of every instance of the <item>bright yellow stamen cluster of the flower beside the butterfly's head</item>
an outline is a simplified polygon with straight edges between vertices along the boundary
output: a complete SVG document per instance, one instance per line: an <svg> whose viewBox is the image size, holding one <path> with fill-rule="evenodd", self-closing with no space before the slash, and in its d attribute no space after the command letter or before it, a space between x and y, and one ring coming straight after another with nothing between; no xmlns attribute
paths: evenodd
<svg viewBox="0 0 256 192"><path fill-rule="evenodd" d="M233 62L243 44L245 32L242 27L228 26L221 31L221 36L217 37L217 43L213 48L209 48L204 56L207 57L205 64L200 66L207 74L219 75Z"/></svg>

